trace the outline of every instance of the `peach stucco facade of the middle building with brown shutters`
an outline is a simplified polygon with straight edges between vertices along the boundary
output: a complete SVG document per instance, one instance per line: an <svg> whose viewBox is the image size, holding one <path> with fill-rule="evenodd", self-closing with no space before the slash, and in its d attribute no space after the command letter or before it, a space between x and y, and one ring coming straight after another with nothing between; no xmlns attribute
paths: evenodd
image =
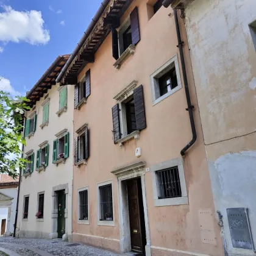
<svg viewBox="0 0 256 256"><path fill-rule="evenodd" d="M222 255L221 229L216 219L207 157L202 137L187 34L183 20L179 20L187 69L197 141L181 157L180 150L191 140L190 119L183 85L182 67L177 48L176 26L171 9L161 7L152 16L155 1L133 1L121 18L121 24L138 7L140 42L135 52L116 69L112 56L112 34L108 34L90 63L79 73L91 72L91 94L86 104L74 110L74 138L76 130L88 124L90 157L85 164L74 166L73 181L73 241L81 241L117 252L129 251L126 241L126 221L121 204L121 184L112 171L144 162L140 170L146 227L146 255ZM151 4L151 5L149 5ZM169 15L171 13L171 15ZM152 16L152 17L151 17ZM180 16L180 15L179 15ZM151 74L177 55L181 88L157 104L152 103ZM176 70L177 71L177 70ZM179 74L177 74L179 76ZM132 138L119 146L113 141L113 97L132 81L143 85L146 129L140 138ZM71 85L69 85L70 87ZM141 156L135 156L135 149ZM154 175L166 162L177 160L183 165L188 202L155 206ZM129 177L136 176L136 171ZM113 221L99 223L98 183L113 185ZM88 222L78 218L78 191L88 188ZM205 231L208 230L208 233ZM129 240L129 238L128 238ZM128 246L127 246L128 244Z"/></svg>

